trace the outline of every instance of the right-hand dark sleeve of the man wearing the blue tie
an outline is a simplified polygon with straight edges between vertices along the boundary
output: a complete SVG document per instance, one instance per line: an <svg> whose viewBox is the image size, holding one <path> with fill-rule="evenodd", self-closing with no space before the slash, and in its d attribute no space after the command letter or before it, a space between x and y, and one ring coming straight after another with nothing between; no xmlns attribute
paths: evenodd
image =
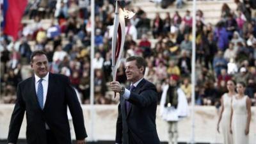
<svg viewBox="0 0 256 144"><path fill-rule="evenodd" d="M83 110L77 99L76 92L74 88L70 85L68 77L66 77L66 88L65 88L65 97L67 99L68 108L72 115L74 130L76 133L76 140L83 140L87 137L86 130L84 127L84 117Z"/></svg>

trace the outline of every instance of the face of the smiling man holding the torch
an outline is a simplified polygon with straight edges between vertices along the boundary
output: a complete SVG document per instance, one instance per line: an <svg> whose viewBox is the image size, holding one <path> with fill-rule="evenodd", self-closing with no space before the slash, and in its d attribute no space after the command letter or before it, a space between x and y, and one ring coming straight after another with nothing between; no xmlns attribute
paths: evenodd
<svg viewBox="0 0 256 144"><path fill-rule="evenodd" d="M136 65L136 61L127 61L125 63L125 74L128 81L132 83L136 83L143 77L143 70L144 68L138 68Z"/></svg>

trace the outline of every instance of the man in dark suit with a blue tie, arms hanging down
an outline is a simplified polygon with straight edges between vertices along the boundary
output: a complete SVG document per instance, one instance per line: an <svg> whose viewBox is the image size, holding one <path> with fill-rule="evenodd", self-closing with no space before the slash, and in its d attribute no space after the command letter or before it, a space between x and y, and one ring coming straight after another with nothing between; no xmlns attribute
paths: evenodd
<svg viewBox="0 0 256 144"><path fill-rule="evenodd" d="M48 60L43 51L33 52L30 60L35 75L17 86L8 143L17 143L26 111L28 144L71 144L68 106L77 144L84 144L87 134L83 111L68 77L48 71Z"/></svg>

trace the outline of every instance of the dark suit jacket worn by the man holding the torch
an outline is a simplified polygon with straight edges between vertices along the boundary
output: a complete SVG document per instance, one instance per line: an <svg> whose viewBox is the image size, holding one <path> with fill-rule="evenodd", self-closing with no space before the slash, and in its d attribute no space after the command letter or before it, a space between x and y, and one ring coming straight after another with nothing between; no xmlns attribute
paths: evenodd
<svg viewBox="0 0 256 144"><path fill-rule="evenodd" d="M120 97L116 122L116 143L160 144L156 131L156 86L143 79L131 92L131 107L125 110L125 99Z"/></svg>

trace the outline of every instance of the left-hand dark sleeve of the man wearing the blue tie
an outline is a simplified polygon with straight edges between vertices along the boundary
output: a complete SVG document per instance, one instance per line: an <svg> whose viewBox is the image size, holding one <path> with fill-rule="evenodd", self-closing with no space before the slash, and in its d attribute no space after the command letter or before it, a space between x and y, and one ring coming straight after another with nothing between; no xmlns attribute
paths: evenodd
<svg viewBox="0 0 256 144"><path fill-rule="evenodd" d="M16 99L15 107L13 109L12 118L9 125L8 143L17 143L17 139L20 132L20 126L24 118L25 109L26 107L22 99L22 95L20 92L20 84L19 84L17 87L17 99Z"/></svg>

